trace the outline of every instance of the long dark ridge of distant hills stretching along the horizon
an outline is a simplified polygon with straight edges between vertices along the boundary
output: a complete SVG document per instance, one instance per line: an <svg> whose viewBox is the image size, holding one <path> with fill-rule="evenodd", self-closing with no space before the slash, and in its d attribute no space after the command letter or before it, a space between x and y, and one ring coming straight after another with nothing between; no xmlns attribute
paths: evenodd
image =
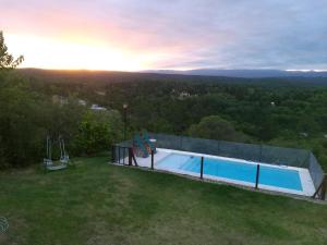
<svg viewBox="0 0 327 245"><path fill-rule="evenodd" d="M210 72L211 73L210 73ZM221 71L221 75L218 75ZM243 72L242 72L243 71ZM252 71L252 70L251 70ZM327 86L326 72L283 72L265 70L192 70L180 71L147 71L147 72L113 72L113 71L60 71L41 69L17 69L16 72L37 82L66 82L66 83L133 83L133 82L193 82L247 84L269 87L282 86ZM269 72L268 72L269 71ZM198 74L197 74L198 73ZM203 75L205 74L206 75ZM216 75L215 75L216 74ZM284 75L282 75L284 74ZM232 75L232 76L231 76ZM256 76L255 76L256 75ZM270 76L268 76L270 75Z"/></svg>

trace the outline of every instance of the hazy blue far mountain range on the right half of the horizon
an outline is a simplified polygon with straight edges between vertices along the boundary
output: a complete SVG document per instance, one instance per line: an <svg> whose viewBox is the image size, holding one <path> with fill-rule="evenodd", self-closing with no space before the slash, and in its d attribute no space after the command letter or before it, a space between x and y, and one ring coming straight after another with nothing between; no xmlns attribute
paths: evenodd
<svg viewBox="0 0 327 245"><path fill-rule="evenodd" d="M154 70L145 71L160 74L182 74L182 75L202 75L202 76L227 76L242 78L268 78L268 77L327 77L327 72L301 72L282 70L215 70L199 69L189 71L175 70Z"/></svg>

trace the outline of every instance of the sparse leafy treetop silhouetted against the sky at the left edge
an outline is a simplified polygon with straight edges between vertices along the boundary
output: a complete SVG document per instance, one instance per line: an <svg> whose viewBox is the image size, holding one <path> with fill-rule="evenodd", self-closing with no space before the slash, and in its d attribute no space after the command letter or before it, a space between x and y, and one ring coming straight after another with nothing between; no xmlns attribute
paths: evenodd
<svg viewBox="0 0 327 245"><path fill-rule="evenodd" d="M24 61L24 57L20 56L14 59L12 54L8 52L8 47L4 44L4 37L2 30L0 32L0 71L15 69Z"/></svg>

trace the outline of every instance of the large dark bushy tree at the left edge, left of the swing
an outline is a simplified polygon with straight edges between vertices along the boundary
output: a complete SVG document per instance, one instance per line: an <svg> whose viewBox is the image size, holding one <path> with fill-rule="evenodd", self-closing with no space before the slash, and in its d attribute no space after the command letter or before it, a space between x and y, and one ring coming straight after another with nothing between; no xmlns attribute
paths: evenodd
<svg viewBox="0 0 327 245"><path fill-rule="evenodd" d="M36 160L44 139L37 95L23 79L8 76L4 84L0 89L0 169Z"/></svg>

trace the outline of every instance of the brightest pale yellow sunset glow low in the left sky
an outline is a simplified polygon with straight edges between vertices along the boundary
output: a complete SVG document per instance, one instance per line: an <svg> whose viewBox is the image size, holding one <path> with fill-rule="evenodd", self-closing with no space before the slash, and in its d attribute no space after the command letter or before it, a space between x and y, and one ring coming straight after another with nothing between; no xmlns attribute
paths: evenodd
<svg viewBox="0 0 327 245"><path fill-rule="evenodd" d="M22 68L140 71L148 68L153 60L150 56L92 40L15 34L7 34L4 38L10 52L24 56Z"/></svg>

